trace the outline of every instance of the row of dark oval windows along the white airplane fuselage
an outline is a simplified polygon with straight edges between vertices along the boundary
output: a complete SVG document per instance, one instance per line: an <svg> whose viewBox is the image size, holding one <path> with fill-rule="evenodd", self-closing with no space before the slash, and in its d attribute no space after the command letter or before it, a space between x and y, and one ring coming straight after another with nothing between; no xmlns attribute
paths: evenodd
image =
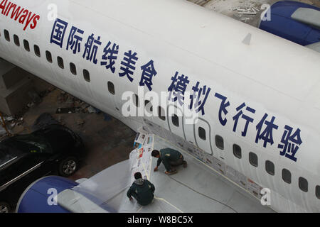
<svg viewBox="0 0 320 227"><path fill-rule="evenodd" d="M1 36L1 34L0 34L0 36ZM10 42L9 31L4 30L4 38L8 42ZM20 40L18 38L18 35L14 35L14 43L17 46L20 46ZM23 40L23 46L24 46L25 50L30 52L30 45L27 40ZM41 51L40 51L40 48L38 47L38 45L34 45L33 49L34 49L35 55L38 57L41 57ZM52 55L48 50L46 51L46 59L48 62L53 63ZM63 58L58 56L57 62L58 62L58 66L61 69L64 69ZM75 66L75 64L73 62L70 62L70 72L74 75L77 75L77 67ZM83 70L83 77L87 82L90 82L90 72L89 71ZM114 95L115 94L114 84L112 82L108 82L107 87L108 87L108 91L110 92L110 94ZM139 107L139 98L138 98L137 94L134 94L134 99L135 99L134 104L137 107ZM149 103L150 103L150 101L146 100L144 105L147 106ZM150 111L152 111L152 106L150 108ZM166 121L166 117L162 114L162 113L164 113L164 109L162 109L161 106L158 106L158 113L159 113L158 114L159 118L162 121ZM178 116L176 116L176 114L174 114L174 116L171 117L171 121L174 124L174 126L179 127L179 118L178 118ZM206 140L206 130L204 128L198 127L198 135L202 140ZM224 141L220 135L215 135L215 145L220 150L224 150ZM238 157L238 159L242 158L241 148L237 144L233 145L233 155L235 155L235 157ZM249 153L249 162L252 166L258 167L258 157L255 153L252 153L252 152ZM265 170L267 171L267 173L269 175L274 176L274 163L271 162L270 160L266 160L265 161ZM291 182L292 182L291 172L287 169L282 169L282 179L287 184L291 184ZM304 177L299 177L299 189L301 189L303 192L308 192L308 181ZM316 191L316 197L318 199L320 199L320 186L319 185L316 186L315 191Z"/></svg>

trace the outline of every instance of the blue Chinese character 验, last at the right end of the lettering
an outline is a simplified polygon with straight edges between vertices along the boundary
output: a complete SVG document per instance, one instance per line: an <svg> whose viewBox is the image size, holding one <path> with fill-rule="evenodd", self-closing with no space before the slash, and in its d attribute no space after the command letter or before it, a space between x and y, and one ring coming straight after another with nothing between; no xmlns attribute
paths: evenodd
<svg viewBox="0 0 320 227"><path fill-rule="evenodd" d="M293 128L289 126L284 126L284 129L285 130L281 139L282 144L279 143L278 145L278 148L282 149L282 151L280 151L280 155L285 155L285 157L288 157L294 162L297 162L297 157L294 157L294 155L296 155L299 149L298 145L302 144L302 140L300 137L301 131L298 128L297 131L293 135L291 135Z"/></svg>

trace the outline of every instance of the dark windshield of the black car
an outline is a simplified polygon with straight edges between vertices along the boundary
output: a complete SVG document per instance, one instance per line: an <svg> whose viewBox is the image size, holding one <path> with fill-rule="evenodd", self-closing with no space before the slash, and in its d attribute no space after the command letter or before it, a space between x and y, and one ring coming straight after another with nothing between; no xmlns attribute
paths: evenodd
<svg viewBox="0 0 320 227"><path fill-rule="evenodd" d="M9 144L18 150L27 153L50 153L46 140L35 135L18 135L9 141Z"/></svg>

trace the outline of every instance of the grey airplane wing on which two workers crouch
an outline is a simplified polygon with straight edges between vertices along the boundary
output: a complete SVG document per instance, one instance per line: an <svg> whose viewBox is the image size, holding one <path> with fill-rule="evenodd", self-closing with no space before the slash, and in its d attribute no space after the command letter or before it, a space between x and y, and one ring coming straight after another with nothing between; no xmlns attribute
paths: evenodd
<svg viewBox="0 0 320 227"><path fill-rule="evenodd" d="M178 173L171 176L164 174L164 165L154 172L156 158L151 157L151 151L169 147L183 154L188 167L178 167ZM127 198L127 190L138 171L156 187L154 201L148 206ZM154 134L146 134L144 144L130 153L129 160L103 170L73 191L95 195L100 200L99 206L115 212L274 212L195 157Z"/></svg>

